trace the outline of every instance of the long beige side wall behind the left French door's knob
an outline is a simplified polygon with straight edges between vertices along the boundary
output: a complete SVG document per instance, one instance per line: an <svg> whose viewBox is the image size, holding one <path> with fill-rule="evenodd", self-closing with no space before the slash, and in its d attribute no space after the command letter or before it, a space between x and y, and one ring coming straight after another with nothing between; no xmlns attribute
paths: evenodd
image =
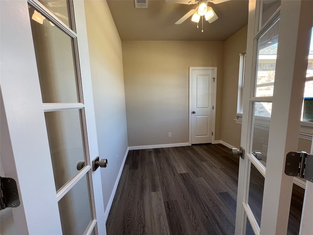
<svg viewBox="0 0 313 235"><path fill-rule="evenodd" d="M108 159L107 168L100 168L108 213L128 147L122 45L106 1L85 1L85 12L99 156Z"/></svg>

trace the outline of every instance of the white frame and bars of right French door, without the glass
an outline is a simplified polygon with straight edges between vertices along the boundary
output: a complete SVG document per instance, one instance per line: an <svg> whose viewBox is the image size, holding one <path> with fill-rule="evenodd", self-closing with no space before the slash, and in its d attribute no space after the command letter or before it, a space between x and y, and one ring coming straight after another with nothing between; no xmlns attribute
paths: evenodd
<svg viewBox="0 0 313 235"><path fill-rule="evenodd" d="M288 152L297 150L313 23L313 1L281 1L281 7L268 20L268 24L271 24L276 17L280 18L273 96L254 97L257 35L264 29L256 28L261 3L262 1L249 1L241 135L241 145L246 149L246 155L245 159L240 158L239 163L236 235L245 233L246 216L255 234L287 233L293 177L285 175L285 161ZM266 168L251 154L254 102L272 102ZM260 227L247 201L250 163L265 177ZM309 204L310 206L305 204L304 211L312 208L312 203ZM301 227L304 228L304 224L312 227L312 217L307 218L303 213Z"/></svg>

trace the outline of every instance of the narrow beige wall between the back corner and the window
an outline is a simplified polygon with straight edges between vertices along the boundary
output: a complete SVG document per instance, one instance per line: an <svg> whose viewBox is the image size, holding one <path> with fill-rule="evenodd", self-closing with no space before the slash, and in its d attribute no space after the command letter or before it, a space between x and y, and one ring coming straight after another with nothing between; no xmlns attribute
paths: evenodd
<svg viewBox="0 0 313 235"><path fill-rule="evenodd" d="M221 140L235 147L240 146L241 125L236 124L239 75L239 53L246 50L247 26L224 43L223 102Z"/></svg>

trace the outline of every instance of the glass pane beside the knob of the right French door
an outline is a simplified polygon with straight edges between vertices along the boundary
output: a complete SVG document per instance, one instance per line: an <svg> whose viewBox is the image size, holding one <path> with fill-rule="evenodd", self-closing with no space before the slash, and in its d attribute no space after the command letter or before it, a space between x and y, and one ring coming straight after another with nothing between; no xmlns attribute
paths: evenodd
<svg viewBox="0 0 313 235"><path fill-rule="evenodd" d="M254 102L250 153L266 166L271 102Z"/></svg>

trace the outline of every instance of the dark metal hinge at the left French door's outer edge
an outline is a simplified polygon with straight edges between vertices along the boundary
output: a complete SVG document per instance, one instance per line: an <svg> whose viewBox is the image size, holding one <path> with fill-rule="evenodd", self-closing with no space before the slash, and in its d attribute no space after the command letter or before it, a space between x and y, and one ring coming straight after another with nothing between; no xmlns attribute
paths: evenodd
<svg viewBox="0 0 313 235"><path fill-rule="evenodd" d="M0 210L8 207L18 207L20 206L20 198L18 193L18 187L16 182L12 178L0 177L1 187L0 187Z"/></svg>

